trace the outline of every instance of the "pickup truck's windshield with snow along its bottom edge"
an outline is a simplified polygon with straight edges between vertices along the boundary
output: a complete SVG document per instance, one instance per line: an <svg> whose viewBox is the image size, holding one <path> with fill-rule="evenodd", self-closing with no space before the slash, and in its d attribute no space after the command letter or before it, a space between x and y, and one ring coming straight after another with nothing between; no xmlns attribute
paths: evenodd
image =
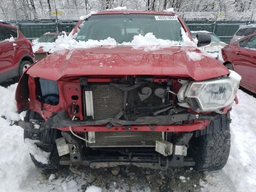
<svg viewBox="0 0 256 192"><path fill-rule="evenodd" d="M176 16L156 14L104 14L92 15L78 30L76 40L104 40L131 42L138 34L152 32L156 38L181 41L181 24Z"/></svg>

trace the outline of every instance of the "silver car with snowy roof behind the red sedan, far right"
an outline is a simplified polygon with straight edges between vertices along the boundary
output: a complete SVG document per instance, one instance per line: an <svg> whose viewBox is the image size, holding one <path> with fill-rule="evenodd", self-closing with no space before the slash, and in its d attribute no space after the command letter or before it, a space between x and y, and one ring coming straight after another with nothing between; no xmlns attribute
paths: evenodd
<svg viewBox="0 0 256 192"><path fill-rule="evenodd" d="M230 43L233 43L233 42L235 42L239 39L242 39L245 36L248 36L248 35L253 34L255 32L256 32L256 24L240 26L240 28L234 34L234 36L231 37Z"/></svg>

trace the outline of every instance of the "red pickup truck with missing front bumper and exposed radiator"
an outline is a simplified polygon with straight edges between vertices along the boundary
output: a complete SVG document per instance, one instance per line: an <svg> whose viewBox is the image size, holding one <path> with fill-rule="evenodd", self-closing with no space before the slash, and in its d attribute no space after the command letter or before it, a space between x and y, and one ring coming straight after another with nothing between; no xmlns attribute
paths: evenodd
<svg viewBox="0 0 256 192"><path fill-rule="evenodd" d="M26 116L16 124L25 140L50 152L48 164L31 154L36 166L218 170L226 164L240 79L192 46L196 40L179 16L97 12L82 18L73 34L77 41L69 46L107 38L116 45L55 51L20 79L16 102ZM129 44L147 34L175 45ZM208 34L197 38L198 46L210 43Z"/></svg>

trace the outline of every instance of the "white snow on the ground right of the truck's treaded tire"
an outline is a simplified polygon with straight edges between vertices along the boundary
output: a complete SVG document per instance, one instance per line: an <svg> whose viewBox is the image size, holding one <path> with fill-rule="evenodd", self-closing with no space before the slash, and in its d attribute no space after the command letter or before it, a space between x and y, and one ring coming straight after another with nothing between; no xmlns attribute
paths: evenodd
<svg viewBox="0 0 256 192"><path fill-rule="evenodd" d="M251 192L256 188L256 98L238 90L231 112L231 149L226 166L206 175L203 192Z"/></svg>

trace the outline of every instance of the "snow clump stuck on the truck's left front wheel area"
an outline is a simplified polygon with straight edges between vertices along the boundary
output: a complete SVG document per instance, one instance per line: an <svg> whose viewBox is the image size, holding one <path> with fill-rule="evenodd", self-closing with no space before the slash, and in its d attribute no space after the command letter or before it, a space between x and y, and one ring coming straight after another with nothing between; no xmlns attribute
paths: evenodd
<svg viewBox="0 0 256 192"><path fill-rule="evenodd" d="M41 150L36 146L35 142L40 142L40 141L31 140L29 138L26 138L24 140L24 143L26 144L30 154L32 154L38 162L41 162L42 164L47 164L49 162L50 152L48 153Z"/></svg>

